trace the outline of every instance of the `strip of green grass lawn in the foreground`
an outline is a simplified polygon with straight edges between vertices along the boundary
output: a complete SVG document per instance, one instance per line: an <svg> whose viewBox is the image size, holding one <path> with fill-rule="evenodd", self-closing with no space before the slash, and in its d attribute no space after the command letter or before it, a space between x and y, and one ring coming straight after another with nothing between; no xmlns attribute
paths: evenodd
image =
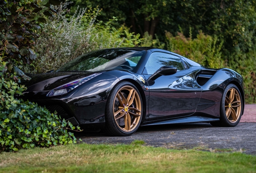
<svg viewBox="0 0 256 173"><path fill-rule="evenodd" d="M253 173L256 156L239 152L174 150L131 145L78 144L0 154L0 172Z"/></svg>

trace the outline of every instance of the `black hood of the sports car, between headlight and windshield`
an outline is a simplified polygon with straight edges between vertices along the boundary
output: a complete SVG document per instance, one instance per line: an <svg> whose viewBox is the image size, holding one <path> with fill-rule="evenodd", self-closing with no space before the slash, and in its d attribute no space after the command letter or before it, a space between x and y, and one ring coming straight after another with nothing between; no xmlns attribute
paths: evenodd
<svg viewBox="0 0 256 173"><path fill-rule="evenodd" d="M49 91L60 87L73 80L84 78L95 72L52 72L43 74L27 74L31 77L29 81L22 81L27 87L26 92L30 91Z"/></svg>

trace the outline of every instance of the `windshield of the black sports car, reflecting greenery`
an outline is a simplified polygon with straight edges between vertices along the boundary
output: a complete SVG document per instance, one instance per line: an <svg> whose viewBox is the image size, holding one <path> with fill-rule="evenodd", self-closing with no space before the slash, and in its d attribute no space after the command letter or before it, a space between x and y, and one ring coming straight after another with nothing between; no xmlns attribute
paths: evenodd
<svg viewBox="0 0 256 173"><path fill-rule="evenodd" d="M104 49L78 56L56 71L101 71L125 69L136 72L145 50Z"/></svg>

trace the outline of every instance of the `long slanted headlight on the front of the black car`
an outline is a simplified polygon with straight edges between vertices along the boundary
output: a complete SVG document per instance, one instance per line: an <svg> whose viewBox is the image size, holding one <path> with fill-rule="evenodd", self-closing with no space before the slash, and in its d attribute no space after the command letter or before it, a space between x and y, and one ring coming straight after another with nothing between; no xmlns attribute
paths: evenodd
<svg viewBox="0 0 256 173"><path fill-rule="evenodd" d="M50 93L47 94L47 96L55 96L55 95L66 94L66 93L72 91L73 89L75 89L76 87L78 87L79 85L81 85L81 84L87 82L88 80L98 76L99 74L101 74L101 73L95 73L95 74L92 74L92 75L87 76L85 78L81 78L81 79L69 82L67 84L64 84L60 87L57 87L57 88L51 90Z"/></svg>

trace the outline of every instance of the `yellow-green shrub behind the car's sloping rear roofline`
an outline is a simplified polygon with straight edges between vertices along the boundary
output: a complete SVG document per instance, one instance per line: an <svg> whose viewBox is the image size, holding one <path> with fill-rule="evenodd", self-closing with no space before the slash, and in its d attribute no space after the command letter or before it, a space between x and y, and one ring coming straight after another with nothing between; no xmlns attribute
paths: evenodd
<svg viewBox="0 0 256 173"><path fill-rule="evenodd" d="M165 36L168 41L168 50L190 58L206 67L223 67L224 61L221 58L223 41L217 44L218 38L216 36L205 35L200 31L197 37L193 39L191 29L189 38L186 38L182 32L178 32L175 37L170 32L166 32Z"/></svg>

